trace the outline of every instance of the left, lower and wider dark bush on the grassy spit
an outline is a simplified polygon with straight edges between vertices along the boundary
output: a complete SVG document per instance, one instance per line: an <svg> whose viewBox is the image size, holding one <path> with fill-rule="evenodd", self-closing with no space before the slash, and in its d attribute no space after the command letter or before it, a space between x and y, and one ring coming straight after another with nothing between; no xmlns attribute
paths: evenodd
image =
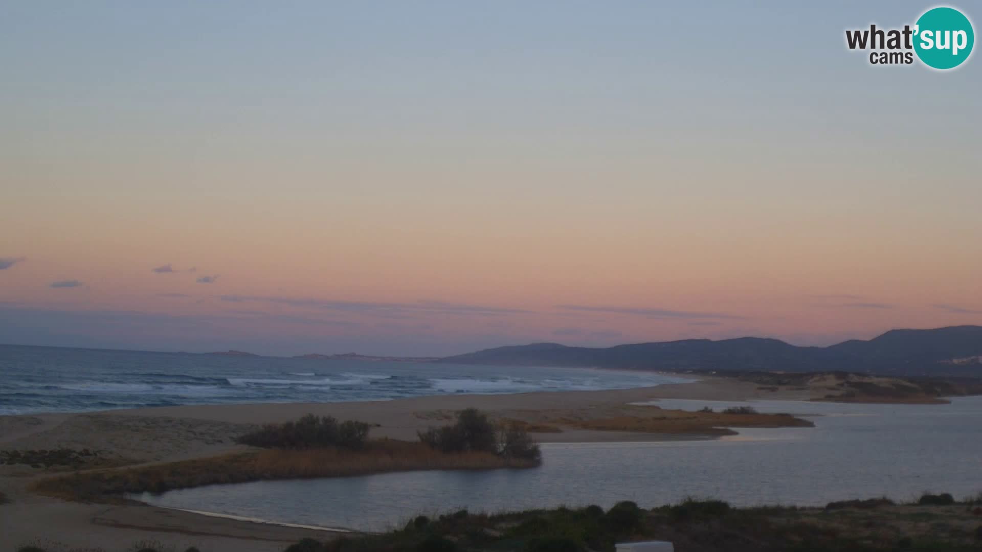
<svg viewBox="0 0 982 552"><path fill-rule="evenodd" d="M267 423L262 428L236 438L236 442L267 449L309 449L364 446L371 425L362 421L338 422L332 416L306 414L296 421Z"/></svg>

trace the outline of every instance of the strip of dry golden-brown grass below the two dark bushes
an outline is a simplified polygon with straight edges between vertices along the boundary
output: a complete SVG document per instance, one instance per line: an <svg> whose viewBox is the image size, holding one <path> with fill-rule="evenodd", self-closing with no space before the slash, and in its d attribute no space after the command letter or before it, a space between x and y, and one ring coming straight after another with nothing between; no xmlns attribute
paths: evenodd
<svg viewBox="0 0 982 552"><path fill-rule="evenodd" d="M422 443L371 441L363 450L262 450L137 468L100 469L59 475L35 482L43 495L81 501L106 501L123 493L163 492L218 483L262 479L343 477L418 469L532 468L536 462L504 459L488 453L445 454Z"/></svg>

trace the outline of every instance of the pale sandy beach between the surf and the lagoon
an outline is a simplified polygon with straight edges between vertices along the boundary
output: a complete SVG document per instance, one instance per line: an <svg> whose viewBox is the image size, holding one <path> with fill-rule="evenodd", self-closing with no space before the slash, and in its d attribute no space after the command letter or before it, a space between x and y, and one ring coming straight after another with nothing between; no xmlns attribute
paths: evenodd
<svg viewBox="0 0 982 552"><path fill-rule="evenodd" d="M631 403L657 399L739 401L807 400L822 391L767 389L754 383L707 377L684 384L616 390L515 395L444 395L394 401L332 404L184 406L84 414L36 414L0 417L0 450L89 449L107 465L137 466L174 462L245 450L232 438L255 424L279 422L302 414L333 415L375 425L372 437L414 440L416 431L439 425L455 411L474 407L496 418L548 424L564 420L561 432L535 433L541 442L668 440L707 438L679 431L601 431L576 423L632 415ZM650 409L649 409L650 410ZM572 425L571 425L572 424ZM140 505L79 504L37 496L27 487L52 472L23 464L0 466L0 535L4 549L35 541L72 547L123 549L138 540L154 540L184 550L278 551L304 536L324 531L257 524ZM407 512L407 515L411 512Z"/></svg>

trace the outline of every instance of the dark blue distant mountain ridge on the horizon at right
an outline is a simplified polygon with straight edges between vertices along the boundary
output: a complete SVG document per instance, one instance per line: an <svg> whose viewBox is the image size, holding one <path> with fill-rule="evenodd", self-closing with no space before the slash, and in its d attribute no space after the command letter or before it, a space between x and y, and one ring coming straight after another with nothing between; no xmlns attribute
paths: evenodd
<svg viewBox="0 0 982 552"><path fill-rule="evenodd" d="M596 366L696 371L846 370L885 375L982 377L982 326L891 330L869 341L798 347L777 339L687 339L608 348L534 343L486 349L441 362Z"/></svg>

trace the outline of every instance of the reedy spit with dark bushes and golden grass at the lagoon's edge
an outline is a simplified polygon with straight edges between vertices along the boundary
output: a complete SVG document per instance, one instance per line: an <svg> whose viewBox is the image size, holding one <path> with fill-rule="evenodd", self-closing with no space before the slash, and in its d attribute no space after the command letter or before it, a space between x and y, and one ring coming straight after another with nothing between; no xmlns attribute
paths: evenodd
<svg viewBox="0 0 982 552"><path fill-rule="evenodd" d="M264 447L215 457L122 469L92 469L41 479L35 492L76 501L121 500L127 493L165 492L265 479L344 477L420 469L533 468L539 447L518 426L497 427L486 414L462 412L455 424L420 434L419 442L368 439L370 425L330 416L268 424L237 439Z"/></svg>

